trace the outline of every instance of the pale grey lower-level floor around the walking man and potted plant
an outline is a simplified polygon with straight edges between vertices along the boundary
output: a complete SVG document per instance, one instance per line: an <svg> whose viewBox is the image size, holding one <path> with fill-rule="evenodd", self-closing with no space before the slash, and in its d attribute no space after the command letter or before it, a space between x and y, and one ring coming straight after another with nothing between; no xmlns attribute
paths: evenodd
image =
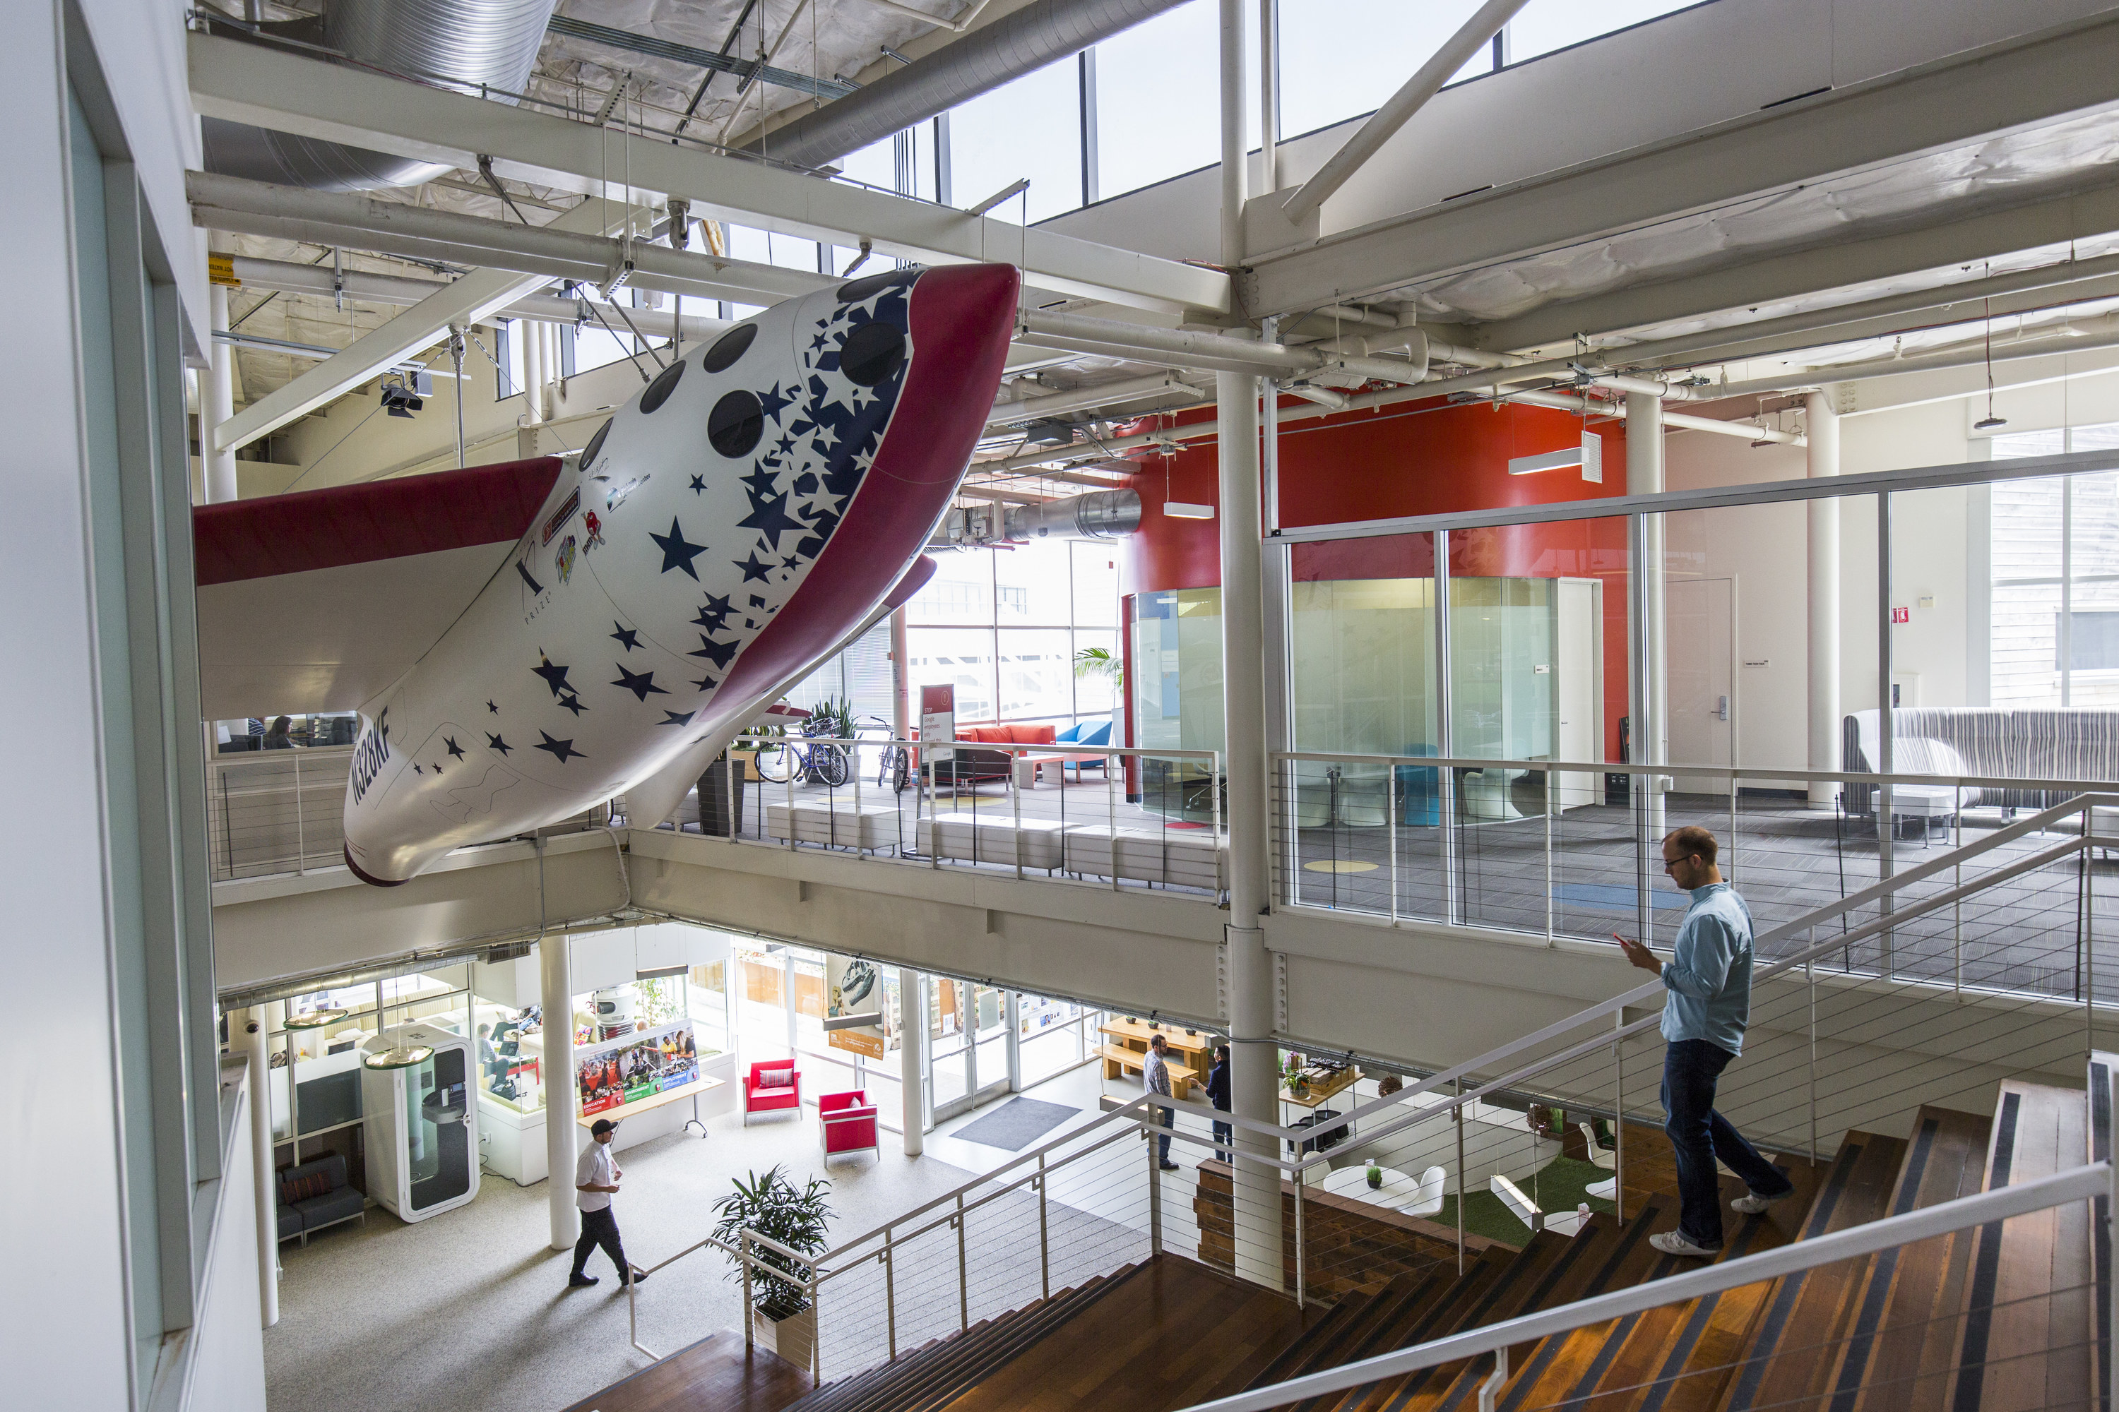
<svg viewBox="0 0 2119 1412"><path fill-rule="evenodd" d="M710 1130L621 1154L617 1213L634 1264L655 1264L708 1234L729 1179L773 1162L797 1181L831 1177L839 1236L971 1179L947 1162L907 1158L892 1135L879 1158L839 1158L826 1173L812 1114L761 1118L750 1128L725 1116ZM367 1226L322 1232L307 1249L282 1247L280 1323L265 1332L271 1406L549 1412L644 1368L648 1359L627 1342L627 1300L610 1262L591 1257L589 1272L602 1277L595 1289L566 1289L570 1253L547 1249L545 1190L487 1175L475 1202L417 1226L371 1209ZM644 1283L640 1342L674 1353L716 1329L742 1329L742 1291L725 1274L725 1260L697 1253Z"/></svg>

